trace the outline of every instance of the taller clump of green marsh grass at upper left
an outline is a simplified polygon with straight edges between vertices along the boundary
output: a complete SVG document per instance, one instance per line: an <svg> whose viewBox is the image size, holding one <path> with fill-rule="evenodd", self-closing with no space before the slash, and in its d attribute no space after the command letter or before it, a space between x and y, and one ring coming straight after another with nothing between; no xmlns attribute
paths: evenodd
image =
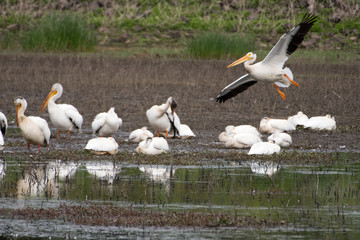
<svg viewBox="0 0 360 240"><path fill-rule="evenodd" d="M82 17L52 14L24 32L20 45L28 51L90 51L96 45L96 38Z"/></svg>

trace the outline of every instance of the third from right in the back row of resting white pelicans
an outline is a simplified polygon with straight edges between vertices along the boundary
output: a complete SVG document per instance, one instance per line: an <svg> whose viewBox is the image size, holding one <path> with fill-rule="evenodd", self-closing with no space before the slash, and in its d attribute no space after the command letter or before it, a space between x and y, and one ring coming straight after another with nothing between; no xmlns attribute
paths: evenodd
<svg viewBox="0 0 360 240"><path fill-rule="evenodd" d="M275 133L293 131L295 130L295 126L292 125L287 119L272 119L264 117L260 121L259 130L262 133Z"/></svg>

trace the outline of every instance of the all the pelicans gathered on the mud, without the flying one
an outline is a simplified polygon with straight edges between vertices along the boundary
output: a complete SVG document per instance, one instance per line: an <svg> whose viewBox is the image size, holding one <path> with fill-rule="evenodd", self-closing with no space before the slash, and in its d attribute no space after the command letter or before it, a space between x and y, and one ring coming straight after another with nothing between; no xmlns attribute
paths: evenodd
<svg viewBox="0 0 360 240"><path fill-rule="evenodd" d="M57 104L55 101L61 97L63 87L55 83L48 96L44 100L41 110L48 108L52 125L58 129L57 138L60 132L67 132L69 139L70 132L81 130L83 117L79 111L70 104ZM38 151L41 145L50 142L51 131L45 119L35 116L26 116L27 102L22 97L14 101L16 106L16 123L20 127L22 135L27 142L28 150L30 144L37 145ZM175 112L177 104L172 97L161 105L154 105L146 111L150 126L155 130L156 136L147 127L132 131L128 140L138 142L136 152L144 154L160 154L168 151L168 137L190 138L195 137L190 127L181 124L179 116ZM7 119L0 112L1 134L0 145L4 145L3 135L8 127ZM99 113L95 116L91 127L94 134L100 137L90 139L85 147L96 154L116 154L118 144L112 137L122 125L121 118L115 113L114 108L108 112ZM250 148L248 154L273 154L280 151L280 147L288 147L292 138L288 133L296 129L296 126L311 128L315 130L333 130L336 128L334 117L330 115L308 118L302 112L289 117L288 119L263 118L260 121L259 130L251 125L227 126L225 131L220 133L219 141L229 148ZM267 142L261 140L261 134L271 134ZM162 135L162 136L160 136Z"/></svg>

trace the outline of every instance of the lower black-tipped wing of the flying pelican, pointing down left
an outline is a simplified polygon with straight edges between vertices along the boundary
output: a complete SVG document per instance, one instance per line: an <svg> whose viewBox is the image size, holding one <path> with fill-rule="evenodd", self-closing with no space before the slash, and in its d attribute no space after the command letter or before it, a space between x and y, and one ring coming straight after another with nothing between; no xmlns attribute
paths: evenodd
<svg viewBox="0 0 360 240"><path fill-rule="evenodd" d="M245 74L236 81L227 85L216 97L216 101L219 103L225 102L226 100L235 97L239 93L244 92L250 86L257 83L249 74Z"/></svg>

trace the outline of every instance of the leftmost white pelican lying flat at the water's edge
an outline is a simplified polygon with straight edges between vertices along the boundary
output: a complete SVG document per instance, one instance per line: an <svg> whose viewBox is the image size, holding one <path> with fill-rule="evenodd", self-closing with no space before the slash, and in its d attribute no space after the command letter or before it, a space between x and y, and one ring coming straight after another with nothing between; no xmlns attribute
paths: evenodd
<svg viewBox="0 0 360 240"><path fill-rule="evenodd" d="M98 137L88 141L85 146L86 150L90 150L96 155L110 154L114 155L118 152L119 145L113 137Z"/></svg>

